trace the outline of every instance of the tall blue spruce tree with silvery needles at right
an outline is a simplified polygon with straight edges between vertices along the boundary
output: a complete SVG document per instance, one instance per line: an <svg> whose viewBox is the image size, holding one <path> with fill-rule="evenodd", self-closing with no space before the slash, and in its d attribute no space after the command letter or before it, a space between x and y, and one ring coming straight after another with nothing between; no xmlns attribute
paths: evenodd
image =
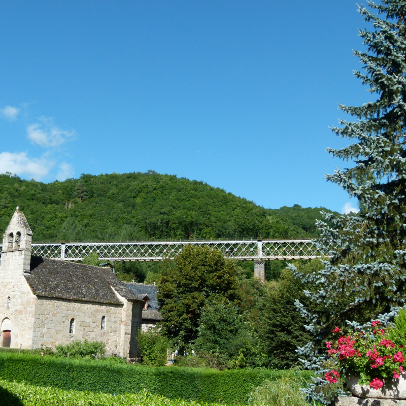
<svg viewBox="0 0 406 406"><path fill-rule="evenodd" d="M313 337L297 351L304 365L316 371L304 392L309 400L324 404L334 395L323 379L328 369L322 344L332 328L370 334L367 320L374 317L388 324L405 305L406 1L382 0L368 6L361 5L358 11L373 30L359 30L367 51L354 53L363 64L355 76L377 98L360 107L339 105L353 121L340 120L332 130L352 144L327 149L334 157L353 162L326 179L356 197L360 212L337 217L324 213L328 221L318 222L321 236L316 245L331 257L323 270L303 275L291 265L296 277L315 286L305 293L324 304L312 313L296 301Z"/></svg>

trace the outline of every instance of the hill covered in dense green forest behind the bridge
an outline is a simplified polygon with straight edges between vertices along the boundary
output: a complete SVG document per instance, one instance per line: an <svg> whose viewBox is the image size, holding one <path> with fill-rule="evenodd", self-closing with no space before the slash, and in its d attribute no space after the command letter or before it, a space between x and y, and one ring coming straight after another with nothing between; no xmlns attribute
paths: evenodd
<svg viewBox="0 0 406 406"><path fill-rule="evenodd" d="M19 206L33 241L309 238L320 210L264 209L204 182L148 173L45 184L0 175L0 230Z"/></svg>

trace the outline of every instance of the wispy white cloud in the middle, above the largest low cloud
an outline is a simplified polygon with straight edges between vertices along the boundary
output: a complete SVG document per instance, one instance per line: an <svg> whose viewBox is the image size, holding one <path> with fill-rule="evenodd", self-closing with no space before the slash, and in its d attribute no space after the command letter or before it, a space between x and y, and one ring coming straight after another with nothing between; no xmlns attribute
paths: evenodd
<svg viewBox="0 0 406 406"><path fill-rule="evenodd" d="M75 136L75 131L61 130L50 118L42 118L41 121L41 124L34 123L27 126L27 137L41 147L57 147Z"/></svg>

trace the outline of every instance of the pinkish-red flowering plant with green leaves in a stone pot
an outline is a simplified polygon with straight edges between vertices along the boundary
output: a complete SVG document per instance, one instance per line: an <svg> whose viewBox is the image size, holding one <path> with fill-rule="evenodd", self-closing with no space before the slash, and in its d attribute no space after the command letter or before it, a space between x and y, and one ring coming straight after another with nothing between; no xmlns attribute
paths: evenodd
<svg viewBox="0 0 406 406"><path fill-rule="evenodd" d="M379 321L371 323L375 328L380 324ZM388 340L383 329L376 328L373 338L364 332L342 335L337 327L333 333L337 336L336 340L325 343L329 363L338 366L344 374L359 376L360 385L380 389L383 381L399 379L404 372L404 346ZM340 375L332 369L324 377L327 382L336 383Z"/></svg>

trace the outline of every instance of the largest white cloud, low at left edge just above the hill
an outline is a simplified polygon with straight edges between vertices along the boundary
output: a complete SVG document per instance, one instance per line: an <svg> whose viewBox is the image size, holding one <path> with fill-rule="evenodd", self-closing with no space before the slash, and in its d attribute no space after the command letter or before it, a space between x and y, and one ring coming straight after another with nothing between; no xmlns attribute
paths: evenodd
<svg viewBox="0 0 406 406"><path fill-rule="evenodd" d="M0 153L0 174L11 172L41 180L48 175L52 165L53 162L46 158L29 158L26 152Z"/></svg>

